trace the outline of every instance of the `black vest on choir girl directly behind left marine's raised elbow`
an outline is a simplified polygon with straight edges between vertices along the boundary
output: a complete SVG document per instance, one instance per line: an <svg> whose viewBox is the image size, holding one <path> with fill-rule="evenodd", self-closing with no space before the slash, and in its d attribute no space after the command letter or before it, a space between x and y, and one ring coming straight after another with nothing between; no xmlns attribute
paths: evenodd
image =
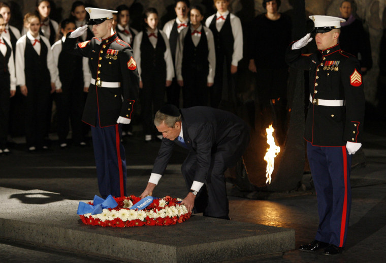
<svg viewBox="0 0 386 263"><path fill-rule="evenodd" d="M61 41L63 46L63 42ZM58 58L58 70L59 78L63 87L74 83L73 80L77 79L78 82L83 83L83 57L77 56L72 53L61 50ZM83 84L82 84L83 85Z"/></svg>

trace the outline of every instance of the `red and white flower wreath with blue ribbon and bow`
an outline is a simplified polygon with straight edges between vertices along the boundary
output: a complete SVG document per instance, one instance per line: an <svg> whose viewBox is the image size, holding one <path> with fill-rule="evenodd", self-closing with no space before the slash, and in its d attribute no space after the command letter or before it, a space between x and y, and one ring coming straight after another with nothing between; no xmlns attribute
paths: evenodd
<svg viewBox="0 0 386 263"><path fill-rule="evenodd" d="M78 215L86 225L130 227L142 225L174 225L190 218L182 199L152 196L141 199L131 195L106 200L95 195L94 201L79 202Z"/></svg>

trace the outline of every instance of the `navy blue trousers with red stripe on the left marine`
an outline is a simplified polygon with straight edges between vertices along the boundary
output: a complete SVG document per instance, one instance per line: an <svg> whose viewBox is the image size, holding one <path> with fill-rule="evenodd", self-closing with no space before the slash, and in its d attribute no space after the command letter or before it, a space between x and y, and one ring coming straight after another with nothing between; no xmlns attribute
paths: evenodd
<svg viewBox="0 0 386 263"><path fill-rule="evenodd" d="M103 127L91 126L95 164L97 165L98 186L102 198L109 194L126 196L126 160L120 137L122 125Z"/></svg>

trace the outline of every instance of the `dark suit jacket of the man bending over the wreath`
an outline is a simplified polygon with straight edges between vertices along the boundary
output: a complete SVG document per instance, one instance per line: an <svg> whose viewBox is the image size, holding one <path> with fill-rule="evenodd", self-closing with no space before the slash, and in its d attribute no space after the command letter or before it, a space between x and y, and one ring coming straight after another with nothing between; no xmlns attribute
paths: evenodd
<svg viewBox="0 0 386 263"><path fill-rule="evenodd" d="M247 124L235 114L211 107L180 109L182 132L188 150L197 156L198 168L194 181L205 183L211 158L217 155L224 167L239 160L249 142ZM152 172L164 174L177 139L163 138Z"/></svg>

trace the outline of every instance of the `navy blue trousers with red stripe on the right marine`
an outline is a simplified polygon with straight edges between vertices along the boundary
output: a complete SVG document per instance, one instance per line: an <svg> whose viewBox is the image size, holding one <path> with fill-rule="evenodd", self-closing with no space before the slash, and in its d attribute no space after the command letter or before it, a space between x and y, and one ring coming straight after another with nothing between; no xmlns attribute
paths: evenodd
<svg viewBox="0 0 386 263"><path fill-rule="evenodd" d="M319 214L315 239L344 247L351 209L351 155L345 146L319 147L307 142L307 156Z"/></svg>

